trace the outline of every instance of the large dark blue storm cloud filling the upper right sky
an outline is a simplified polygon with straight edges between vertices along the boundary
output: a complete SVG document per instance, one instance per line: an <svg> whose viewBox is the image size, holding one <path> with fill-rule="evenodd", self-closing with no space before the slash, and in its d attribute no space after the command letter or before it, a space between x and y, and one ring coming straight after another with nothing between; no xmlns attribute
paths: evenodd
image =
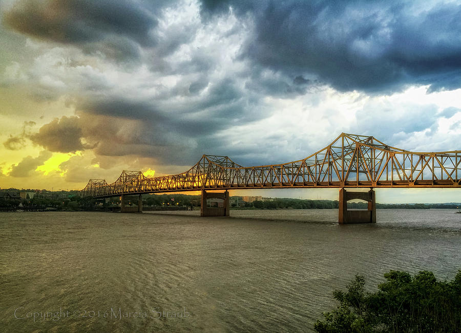
<svg viewBox="0 0 461 333"><path fill-rule="evenodd" d="M206 21L231 7L255 19L241 56L289 77L314 74L341 91L461 86L461 5L416 12L410 2L228 0L202 1L201 14Z"/></svg>

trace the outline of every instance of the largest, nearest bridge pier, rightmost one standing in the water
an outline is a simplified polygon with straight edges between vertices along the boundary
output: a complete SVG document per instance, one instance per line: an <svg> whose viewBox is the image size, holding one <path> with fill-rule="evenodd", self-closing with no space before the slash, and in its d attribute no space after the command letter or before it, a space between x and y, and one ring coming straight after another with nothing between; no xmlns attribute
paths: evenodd
<svg viewBox="0 0 461 333"><path fill-rule="evenodd" d="M347 201L362 199L368 202L368 210L347 210ZM368 192L347 192L340 189L338 223L376 223L376 195L373 189Z"/></svg>

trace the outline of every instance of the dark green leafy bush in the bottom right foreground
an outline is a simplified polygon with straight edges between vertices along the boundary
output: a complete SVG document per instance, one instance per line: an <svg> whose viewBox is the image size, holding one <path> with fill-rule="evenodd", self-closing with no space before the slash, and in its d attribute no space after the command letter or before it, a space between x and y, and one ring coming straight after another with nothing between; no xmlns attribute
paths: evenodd
<svg viewBox="0 0 461 333"><path fill-rule="evenodd" d="M459 332L461 270L451 281L438 281L429 271L412 277L390 271L378 292L365 292L365 278L356 275L347 291L334 291L340 305L317 320L318 332Z"/></svg>

